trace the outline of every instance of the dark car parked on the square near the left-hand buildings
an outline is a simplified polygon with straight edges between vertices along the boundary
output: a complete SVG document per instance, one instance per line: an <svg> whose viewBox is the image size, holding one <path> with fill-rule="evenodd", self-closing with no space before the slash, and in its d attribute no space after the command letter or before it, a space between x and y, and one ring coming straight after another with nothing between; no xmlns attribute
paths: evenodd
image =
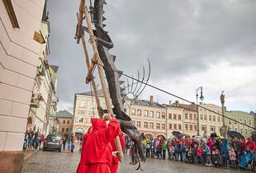
<svg viewBox="0 0 256 173"><path fill-rule="evenodd" d="M58 134L49 134L44 141L43 151L45 150L58 150L61 152L61 136Z"/></svg>

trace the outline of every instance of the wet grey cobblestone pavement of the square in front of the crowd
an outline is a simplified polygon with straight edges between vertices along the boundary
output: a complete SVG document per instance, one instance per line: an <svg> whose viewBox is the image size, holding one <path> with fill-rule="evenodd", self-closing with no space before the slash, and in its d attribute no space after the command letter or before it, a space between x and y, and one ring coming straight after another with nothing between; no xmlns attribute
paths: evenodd
<svg viewBox="0 0 256 173"><path fill-rule="evenodd" d="M23 165L22 173L73 173L76 171L78 162L80 159L80 153L74 151L74 153L67 152L43 152L39 151L34 156L25 161ZM119 173L241 173L242 171L220 169L215 167L198 166L178 161L168 161L161 159L149 159L145 163L142 163L144 171L135 171L136 166L129 164L129 157L126 157L125 161L121 163L119 167Z"/></svg>

